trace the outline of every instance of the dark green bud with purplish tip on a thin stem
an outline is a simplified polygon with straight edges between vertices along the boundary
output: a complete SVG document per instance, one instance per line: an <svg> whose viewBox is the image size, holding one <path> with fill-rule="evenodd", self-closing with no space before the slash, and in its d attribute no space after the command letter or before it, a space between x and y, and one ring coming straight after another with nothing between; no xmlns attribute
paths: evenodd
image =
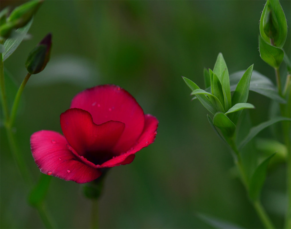
<svg viewBox="0 0 291 229"><path fill-rule="evenodd" d="M49 33L28 55L25 67L29 74L38 74L45 68L49 62L51 46L52 34Z"/></svg>

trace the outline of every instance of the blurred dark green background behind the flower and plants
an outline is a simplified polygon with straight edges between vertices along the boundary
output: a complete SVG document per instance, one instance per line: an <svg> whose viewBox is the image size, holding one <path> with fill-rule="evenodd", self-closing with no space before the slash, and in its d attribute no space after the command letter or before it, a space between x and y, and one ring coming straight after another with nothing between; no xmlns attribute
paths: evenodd
<svg viewBox="0 0 291 229"><path fill-rule="evenodd" d="M1 1L19 5L24 1ZM213 69L219 52L233 73L254 69L275 82L258 52L260 12L265 1L45 1L25 40L4 62L20 85L29 51L48 32L51 59L24 90L15 131L37 182L40 171L30 151L38 130L61 132L59 115L75 94L113 83L131 93L145 113L159 119L155 143L134 162L112 168L100 199L101 228L211 228L197 213L244 228L262 228L239 179L227 146L210 127L207 110L191 101L181 76L201 88L203 68ZM290 56L290 3L284 46ZM270 100L250 92L253 124L268 119ZM263 136L271 137L266 130ZM262 192L275 225L283 226L285 167L267 177ZM26 188L1 126L1 228L43 228L26 200ZM82 185L53 177L46 205L60 228L87 228L91 203Z"/></svg>

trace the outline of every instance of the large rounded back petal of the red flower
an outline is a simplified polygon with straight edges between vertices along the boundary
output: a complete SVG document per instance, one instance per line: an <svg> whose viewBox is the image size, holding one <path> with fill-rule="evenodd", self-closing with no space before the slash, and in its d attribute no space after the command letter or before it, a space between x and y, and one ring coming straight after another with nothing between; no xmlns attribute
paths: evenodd
<svg viewBox="0 0 291 229"><path fill-rule="evenodd" d="M95 124L113 120L125 124L114 151L126 152L139 138L144 127L142 108L124 89L115 85L100 85L77 94L70 108L88 111Z"/></svg>

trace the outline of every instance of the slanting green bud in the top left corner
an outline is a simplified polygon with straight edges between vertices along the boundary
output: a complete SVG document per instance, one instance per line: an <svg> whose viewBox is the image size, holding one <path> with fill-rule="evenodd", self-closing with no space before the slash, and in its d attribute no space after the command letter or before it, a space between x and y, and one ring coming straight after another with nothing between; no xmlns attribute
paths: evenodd
<svg viewBox="0 0 291 229"><path fill-rule="evenodd" d="M25 26L31 20L32 16L38 10L42 2L43 0L34 0L16 7L8 17L8 22L13 22L13 24L15 24L15 28Z"/></svg>

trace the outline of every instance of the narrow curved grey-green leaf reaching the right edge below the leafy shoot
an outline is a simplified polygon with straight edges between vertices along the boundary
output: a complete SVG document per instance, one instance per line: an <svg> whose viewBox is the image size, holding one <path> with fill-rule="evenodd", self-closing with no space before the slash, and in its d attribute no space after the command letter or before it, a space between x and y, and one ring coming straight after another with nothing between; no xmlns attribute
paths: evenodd
<svg viewBox="0 0 291 229"><path fill-rule="evenodd" d="M249 134L242 140L240 143L238 150L242 149L251 139L253 139L260 131L267 128L268 126L271 126L272 124L279 122L279 121L290 121L290 118L287 117L274 117L270 119L269 121L262 122L258 126L254 126L251 128Z"/></svg>

